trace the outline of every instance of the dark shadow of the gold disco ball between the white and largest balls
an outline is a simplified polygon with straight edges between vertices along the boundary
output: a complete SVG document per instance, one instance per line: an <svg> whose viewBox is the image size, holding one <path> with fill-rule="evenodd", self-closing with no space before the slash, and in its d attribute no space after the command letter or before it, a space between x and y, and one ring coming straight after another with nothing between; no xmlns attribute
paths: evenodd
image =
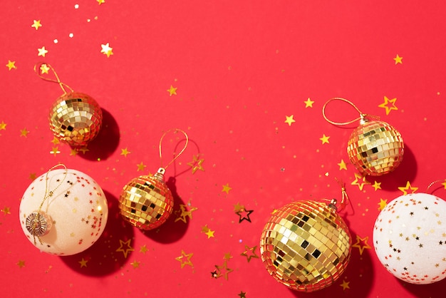
<svg viewBox="0 0 446 298"><path fill-rule="evenodd" d="M143 231L142 234L149 237L151 240L160 243L173 243L180 240L186 233L187 228L189 227L189 220L185 217L185 222L181 220L180 213L181 210L180 205L185 205L185 202L181 199L180 195L178 195L177 187L175 185L176 179L175 177L170 177L166 181L167 187L169 187L173 196L173 212L172 215L167 219L165 223L163 223L160 227L154 230Z"/></svg>

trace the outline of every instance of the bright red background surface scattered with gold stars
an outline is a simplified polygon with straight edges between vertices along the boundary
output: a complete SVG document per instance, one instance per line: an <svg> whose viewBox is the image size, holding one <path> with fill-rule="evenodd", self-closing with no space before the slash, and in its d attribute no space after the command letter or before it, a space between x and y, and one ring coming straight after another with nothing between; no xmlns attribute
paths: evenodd
<svg viewBox="0 0 446 298"><path fill-rule="evenodd" d="M445 8L440 1L2 1L2 296L442 297L445 282L399 282L367 245L373 246L381 199L402 195L398 187L408 181L426 192L432 181L446 178ZM41 21L38 30L33 20ZM113 48L110 57L100 53L106 43ZM42 46L45 57L38 56ZM397 54L402 63L395 63ZM9 61L16 67L10 71ZM103 108L106 129L85 155L51 143L48 109L61 89L33 72L38 61L50 63L64 83ZM176 95L167 92L170 86ZM362 191L351 184L356 170L346 155L356 124L337 127L321 115L323 103L335 96L379 115L405 141L400 168L368 178L371 185ZM398 110L386 115L379 107L385 97L397 98ZM313 107L306 108L307 98ZM336 121L357 116L341 102L327 113ZM284 123L290 115L296 121L291 125ZM160 230L143 233L120 219L118 197L135 176L155 173L157 145L170 128L182 128L191 139L166 173L175 176L177 212ZM29 133L21 136L24 129ZM324 134L329 143L322 144ZM163 144L168 160L177 135ZM60 153L51 154L53 147ZM197 155L204 170L192 173L188 163ZM340 170L341 160L347 170ZM59 162L94 178L110 204L103 236L72 257L39 252L18 219L33 175ZM145 170L138 171L140 163ZM248 262L241 254L247 245L257 246L260 255L261 230L274 208L292 200L340 198L335 178L346 183L351 199L343 215L353 243L364 241L353 247L336 284L313 294L292 292L269 277L260 259ZM376 191L375 180L381 183ZM228 193L222 191L227 183ZM446 197L437 185L435 195ZM254 210L251 222L239 222L238 203ZM180 204L197 208L186 222L177 220ZM206 225L214 237L202 232ZM134 251L126 255L120 243L128 240ZM192 266L176 260L182 251L193 254ZM228 253L232 258L225 261ZM224 262L233 270L226 275L219 269ZM212 278L214 270L223 275Z"/></svg>

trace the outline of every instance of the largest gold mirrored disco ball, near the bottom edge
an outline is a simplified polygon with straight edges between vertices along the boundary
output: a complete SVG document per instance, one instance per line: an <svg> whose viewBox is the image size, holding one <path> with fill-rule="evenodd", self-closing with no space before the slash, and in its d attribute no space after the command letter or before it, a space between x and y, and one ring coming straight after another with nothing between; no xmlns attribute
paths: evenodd
<svg viewBox="0 0 446 298"><path fill-rule="evenodd" d="M336 207L311 200L291 202L266 223L260 252L278 282L314 292L333 284L346 270L351 235Z"/></svg>

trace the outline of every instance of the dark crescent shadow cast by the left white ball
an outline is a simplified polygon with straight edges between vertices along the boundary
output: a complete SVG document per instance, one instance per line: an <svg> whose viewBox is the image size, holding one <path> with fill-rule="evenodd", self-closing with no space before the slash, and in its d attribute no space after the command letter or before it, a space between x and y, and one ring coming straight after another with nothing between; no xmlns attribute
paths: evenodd
<svg viewBox="0 0 446 298"><path fill-rule="evenodd" d="M134 236L133 226L126 223L120 216L118 198L105 190L104 193L108 201L108 220L103 234L88 250L76 255L60 257L68 267L84 275L100 277L112 274L123 267L133 251L131 249L131 240ZM130 245L121 244L128 240L130 240Z"/></svg>

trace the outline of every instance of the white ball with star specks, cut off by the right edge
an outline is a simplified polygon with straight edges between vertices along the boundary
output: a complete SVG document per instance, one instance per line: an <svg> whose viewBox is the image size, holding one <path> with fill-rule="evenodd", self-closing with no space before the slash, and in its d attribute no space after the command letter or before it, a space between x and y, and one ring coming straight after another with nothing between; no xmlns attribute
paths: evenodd
<svg viewBox="0 0 446 298"><path fill-rule="evenodd" d="M446 202L435 195L402 195L373 227L373 246L385 269L411 284L446 277Z"/></svg>

